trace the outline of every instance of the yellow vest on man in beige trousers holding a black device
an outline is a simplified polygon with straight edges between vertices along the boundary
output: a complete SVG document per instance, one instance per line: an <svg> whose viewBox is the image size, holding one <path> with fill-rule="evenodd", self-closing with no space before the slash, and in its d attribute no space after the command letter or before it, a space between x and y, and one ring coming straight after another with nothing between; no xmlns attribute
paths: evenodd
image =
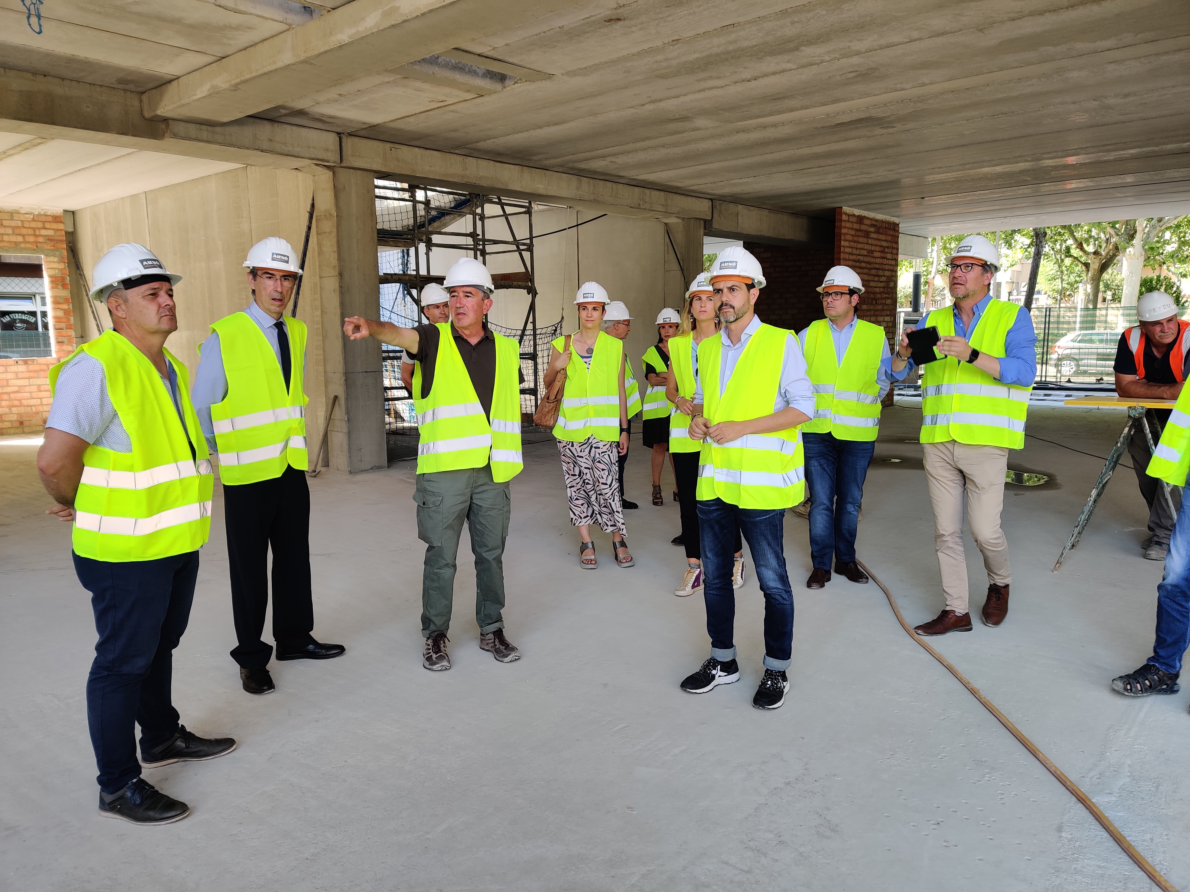
<svg viewBox="0 0 1190 892"><path fill-rule="evenodd" d="M1004 356L1004 340L1021 308L1008 301L988 301L967 341L981 353ZM954 334L954 310L941 307L926 318L940 335ZM1004 384L971 363L942 357L921 372L921 442L1025 447L1025 415L1032 387Z"/></svg>

